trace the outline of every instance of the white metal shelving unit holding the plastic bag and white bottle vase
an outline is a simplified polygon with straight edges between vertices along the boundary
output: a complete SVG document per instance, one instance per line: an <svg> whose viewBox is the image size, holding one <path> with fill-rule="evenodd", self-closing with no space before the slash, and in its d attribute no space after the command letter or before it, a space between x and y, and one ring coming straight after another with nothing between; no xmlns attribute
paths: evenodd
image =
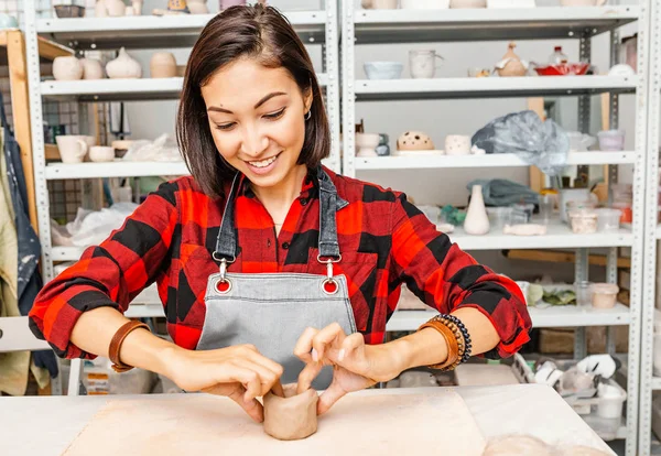
<svg viewBox="0 0 661 456"><path fill-rule="evenodd" d="M661 0L655 0L661 1ZM638 380L640 344L640 278L642 267L647 121L647 47L644 37L649 30L647 0L632 6L605 6L590 8L530 8L530 9L459 9L459 10L360 10L353 0L343 1L343 173L360 177L360 172L394 172L398 175L420 169L474 169L497 166L524 166L513 155L480 156L390 156L356 158L356 104L361 101L505 98L531 96L577 96L579 129L589 127L589 96L610 94L610 128L618 124L618 96L636 96L636 145L633 151L613 154L587 152L570 154L570 164L607 164L610 182L616 181L616 166L633 166L633 213L630 230L617 234L574 235L567 226L552 225L546 236L514 237L490 234L484 237L466 236L462 230L451 234L451 240L465 250L575 248L576 280L587 280L588 248L607 248L607 281L617 280L617 247L631 248L631 294L629 307L617 305L609 312L579 311L577 308L530 308L537 327L562 326L576 328L575 357L585 355L585 327L608 326L607 347L615 350L614 326L629 326L628 401L626 427L604 438L626 437L627 455L637 455L638 443ZM433 78L366 80L356 79L355 48L375 43L423 43L488 40L576 39L581 59L590 59L592 37L610 33L611 64L617 63L618 29L627 23L638 24L638 74L632 77L576 76L576 77L511 77L511 78ZM505 112L503 112L505 113ZM416 156L415 156L416 155ZM587 163L583 163L587 162ZM393 174L394 175L394 174ZM421 311L398 311L389 321L388 330L414 330L429 318Z"/></svg>

